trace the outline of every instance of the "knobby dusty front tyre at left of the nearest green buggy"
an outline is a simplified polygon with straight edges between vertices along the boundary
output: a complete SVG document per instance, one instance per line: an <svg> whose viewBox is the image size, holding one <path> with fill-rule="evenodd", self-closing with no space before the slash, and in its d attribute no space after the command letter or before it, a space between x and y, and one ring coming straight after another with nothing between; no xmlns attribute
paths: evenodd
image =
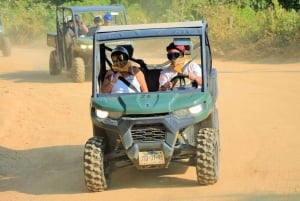
<svg viewBox="0 0 300 201"><path fill-rule="evenodd" d="M102 137L92 137L84 149L84 176L89 191L107 189L109 174L108 163L104 160L105 141Z"/></svg>

